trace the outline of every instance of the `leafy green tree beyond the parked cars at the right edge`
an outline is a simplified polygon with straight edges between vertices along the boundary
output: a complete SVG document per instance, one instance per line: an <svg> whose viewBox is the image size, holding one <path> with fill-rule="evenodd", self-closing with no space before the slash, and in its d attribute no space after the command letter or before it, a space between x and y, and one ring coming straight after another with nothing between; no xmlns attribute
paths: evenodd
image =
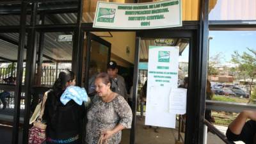
<svg viewBox="0 0 256 144"><path fill-rule="evenodd" d="M256 77L256 51L246 47L248 51L252 54L248 54L248 52L243 52L243 54L239 54L239 52L234 51L232 54L231 61L238 65L237 72L244 76L244 78L250 78L250 93L251 93L251 84L253 83L253 79Z"/></svg>

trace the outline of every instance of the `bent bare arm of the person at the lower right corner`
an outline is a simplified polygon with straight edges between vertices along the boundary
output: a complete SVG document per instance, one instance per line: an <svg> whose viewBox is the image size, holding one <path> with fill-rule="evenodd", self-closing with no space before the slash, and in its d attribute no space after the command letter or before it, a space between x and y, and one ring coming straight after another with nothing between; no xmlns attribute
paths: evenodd
<svg viewBox="0 0 256 144"><path fill-rule="evenodd" d="M244 127L244 124L246 123L247 118L250 118L251 120L256 120L256 111L243 111L241 112L236 119L231 122L231 124L228 126L230 131L234 134L241 134L241 131Z"/></svg>

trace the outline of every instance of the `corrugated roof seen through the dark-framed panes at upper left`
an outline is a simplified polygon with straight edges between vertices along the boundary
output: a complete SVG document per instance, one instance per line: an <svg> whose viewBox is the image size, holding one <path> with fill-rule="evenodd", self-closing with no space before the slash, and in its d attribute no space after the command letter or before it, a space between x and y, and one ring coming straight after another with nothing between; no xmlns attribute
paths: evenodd
<svg viewBox="0 0 256 144"><path fill-rule="evenodd" d="M70 6L70 8L74 8L74 1L72 2L51 2L51 3L41 3L39 4L39 10L49 9L55 10L60 9L61 5ZM8 6L10 8L10 12L15 10L15 12L19 12L20 8L17 4L13 4L12 6ZM2 10L1 12L3 12ZM8 11L8 10L6 10ZM30 23L30 15L26 17L26 24ZM36 24L39 24L39 15L36 18ZM72 24L77 22L77 13L61 13L61 14L46 14L45 15L45 24ZM0 26L19 26L20 24L20 15L1 15L0 17ZM72 60L72 42L58 42L59 35L73 35L72 33L45 33L44 40L44 54L47 57L52 58L52 60ZM2 58L6 58L8 60L17 60L17 50L19 44L19 33L0 33L0 36L3 36L4 39L11 40L11 42L6 42L1 40L0 43L0 56ZM1 39L1 38L0 38ZM27 35L25 37L25 47L27 46ZM15 44L12 44L14 42ZM26 55L25 57L26 58ZM44 58L44 60L49 60Z"/></svg>

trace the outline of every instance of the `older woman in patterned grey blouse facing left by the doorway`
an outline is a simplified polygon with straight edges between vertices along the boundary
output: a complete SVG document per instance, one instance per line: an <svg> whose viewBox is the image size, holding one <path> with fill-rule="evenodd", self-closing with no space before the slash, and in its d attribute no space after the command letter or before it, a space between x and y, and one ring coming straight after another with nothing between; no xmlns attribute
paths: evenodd
<svg viewBox="0 0 256 144"><path fill-rule="evenodd" d="M111 78L100 73L95 79L97 95L88 110L86 143L97 144L100 138L108 144L120 143L122 129L131 128L132 111L121 95L111 91Z"/></svg>

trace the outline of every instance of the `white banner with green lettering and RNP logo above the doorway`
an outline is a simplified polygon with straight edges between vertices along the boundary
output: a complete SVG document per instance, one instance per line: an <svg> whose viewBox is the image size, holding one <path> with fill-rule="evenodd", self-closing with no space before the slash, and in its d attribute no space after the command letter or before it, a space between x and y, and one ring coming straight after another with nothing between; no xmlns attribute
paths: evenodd
<svg viewBox="0 0 256 144"><path fill-rule="evenodd" d="M158 29L182 26L181 0L153 3L98 1L93 28Z"/></svg>

